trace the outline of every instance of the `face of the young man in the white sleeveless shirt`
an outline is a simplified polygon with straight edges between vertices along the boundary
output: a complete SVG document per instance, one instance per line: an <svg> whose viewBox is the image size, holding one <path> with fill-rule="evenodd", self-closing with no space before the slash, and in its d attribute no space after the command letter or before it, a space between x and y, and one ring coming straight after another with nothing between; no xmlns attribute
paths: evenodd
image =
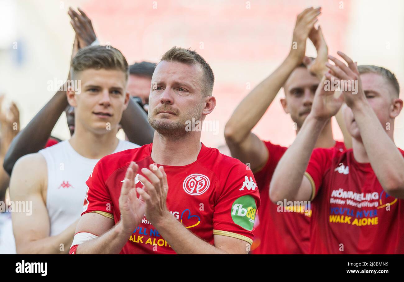
<svg viewBox="0 0 404 282"><path fill-rule="evenodd" d="M116 134L129 102L126 74L115 69L85 69L74 79L81 80L80 94L68 91L67 99L75 108L75 130L82 126L95 134Z"/></svg>

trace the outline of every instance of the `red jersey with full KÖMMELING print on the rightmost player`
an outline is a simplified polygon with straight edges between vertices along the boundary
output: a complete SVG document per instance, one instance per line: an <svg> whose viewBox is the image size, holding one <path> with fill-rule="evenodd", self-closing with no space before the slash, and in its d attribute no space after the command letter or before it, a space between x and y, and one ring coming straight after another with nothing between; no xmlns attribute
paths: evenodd
<svg viewBox="0 0 404 282"><path fill-rule="evenodd" d="M352 149L315 149L306 177L316 189L310 253L404 253L404 202L386 194L370 163L357 162Z"/></svg>

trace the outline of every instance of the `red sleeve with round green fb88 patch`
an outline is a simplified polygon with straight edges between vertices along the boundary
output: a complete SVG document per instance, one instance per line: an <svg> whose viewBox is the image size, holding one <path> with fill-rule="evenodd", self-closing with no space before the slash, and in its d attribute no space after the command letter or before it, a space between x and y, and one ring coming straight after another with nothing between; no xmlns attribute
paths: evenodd
<svg viewBox="0 0 404 282"><path fill-rule="evenodd" d="M213 234L252 244L255 215L260 204L257 184L250 169L237 163L228 173L213 213Z"/></svg>

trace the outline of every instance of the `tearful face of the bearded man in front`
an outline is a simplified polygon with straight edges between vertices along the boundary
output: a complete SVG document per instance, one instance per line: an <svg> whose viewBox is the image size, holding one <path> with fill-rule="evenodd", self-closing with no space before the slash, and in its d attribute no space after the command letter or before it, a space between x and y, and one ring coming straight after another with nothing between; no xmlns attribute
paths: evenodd
<svg viewBox="0 0 404 282"><path fill-rule="evenodd" d="M215 100L202 95L203 82L199 64L160 62L153 74L149 96L150 125L161 135L178 137L186 133L186 121L203 120L214 108L206 109L206 101Z"/></svg>

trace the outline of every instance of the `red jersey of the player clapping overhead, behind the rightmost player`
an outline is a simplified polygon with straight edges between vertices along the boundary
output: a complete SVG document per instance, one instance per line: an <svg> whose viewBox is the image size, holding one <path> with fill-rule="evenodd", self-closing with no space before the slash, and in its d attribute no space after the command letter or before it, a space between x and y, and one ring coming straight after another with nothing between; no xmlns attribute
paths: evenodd
<svg viewBox="0 0 404 282"><path fill-rule="evenodd" d="M269 199L269 183L279 160L287 147L263 141L269 152L269 158L263 168L254 173L261 194L261 205L254 231L252 254L307 254L309 253L310 215L304 209L288 208L278 212L278 205ZM343 142L336 141L333 147L345 150Z"/></svg>

